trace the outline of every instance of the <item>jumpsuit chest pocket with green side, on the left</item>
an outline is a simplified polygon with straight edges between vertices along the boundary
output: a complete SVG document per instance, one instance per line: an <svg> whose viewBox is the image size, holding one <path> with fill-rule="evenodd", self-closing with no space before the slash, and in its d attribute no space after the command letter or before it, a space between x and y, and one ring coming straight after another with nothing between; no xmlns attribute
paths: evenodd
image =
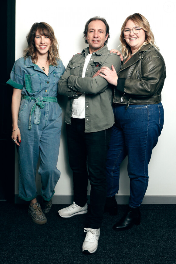
<svg viewBox="0 0 176 264"><path fill-rule="evenodd" d="M42 90L40 74L25 74L25 87L29 93L38 93Z"/></svg>

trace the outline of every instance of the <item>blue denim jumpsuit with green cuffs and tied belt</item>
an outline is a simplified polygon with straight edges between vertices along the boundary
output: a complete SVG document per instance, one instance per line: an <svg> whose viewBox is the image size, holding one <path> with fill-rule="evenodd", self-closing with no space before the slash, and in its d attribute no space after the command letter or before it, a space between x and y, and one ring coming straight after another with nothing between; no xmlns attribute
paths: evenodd
<svg viewBox="0 0 176 264"><path fill-rule="evenodd" d="M49 201L60 177L57 169L62 109L57 103L57 83L64 73L61 60L49 66L48 76L31 57L15 61L8 84L22 90L18 127L21 132L19 155L19 197L31 201L37 196L36 169L41 175L41 195Z"/></svg>

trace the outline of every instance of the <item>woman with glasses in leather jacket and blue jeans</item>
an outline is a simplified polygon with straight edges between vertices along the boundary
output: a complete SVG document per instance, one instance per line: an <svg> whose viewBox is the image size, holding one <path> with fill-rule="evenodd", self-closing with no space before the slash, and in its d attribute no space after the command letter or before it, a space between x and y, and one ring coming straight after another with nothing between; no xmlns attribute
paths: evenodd
<svg viewBox="0 0 176 264"><path fill-rule="evenodd" d="M114 230L127 230L140 224L140 205L148 185L148 164L164 124L161 90L166 78L165 63L154 42L147 19L130 15L121 28L120 42L124 55L118 73L112 66L100 69L99 75L114 87L110 148L107 154L106 209L117 214L115 195L119 189L120 164L128 156L130 198L126 214ZM117 50L112 50L117 52Z"/></svg>

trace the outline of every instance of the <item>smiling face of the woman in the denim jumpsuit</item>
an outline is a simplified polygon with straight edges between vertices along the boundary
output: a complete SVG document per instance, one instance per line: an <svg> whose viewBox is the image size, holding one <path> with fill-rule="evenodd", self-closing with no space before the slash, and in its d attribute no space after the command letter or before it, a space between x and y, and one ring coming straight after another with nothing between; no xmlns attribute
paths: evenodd
<svg viewBox="0 0 176 264"><path fill-rule="evenodd" d="M37 30L34 43L36 46L37 55L45 55L49 51L51 40L47 36L40 35L39 31Z"/></svg>

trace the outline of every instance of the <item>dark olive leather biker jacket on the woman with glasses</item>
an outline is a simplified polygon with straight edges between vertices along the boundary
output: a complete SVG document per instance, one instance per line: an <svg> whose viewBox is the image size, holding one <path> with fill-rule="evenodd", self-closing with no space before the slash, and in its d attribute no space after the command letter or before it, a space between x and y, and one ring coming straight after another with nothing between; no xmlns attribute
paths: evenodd
<svg viewBox="0 0 176 264"><path fill-rule="evenodd" d="M123 62L124 63L124 62ZM161 90L166 67L161 53L151 44L141 47L117 72L114 103L156 104L161 102Z"/></svg>

